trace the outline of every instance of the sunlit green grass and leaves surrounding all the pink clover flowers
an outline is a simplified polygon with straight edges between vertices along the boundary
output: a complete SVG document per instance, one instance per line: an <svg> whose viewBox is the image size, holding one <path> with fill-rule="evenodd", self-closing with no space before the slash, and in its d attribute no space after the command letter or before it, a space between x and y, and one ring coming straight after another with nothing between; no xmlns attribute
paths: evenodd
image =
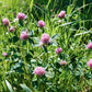
<svg viewBox="0 0 92 92"><path fill-rule="evenodd" d="M0 0L1 92L92 91L92 69L87 65L92 58L92 50L85 48L87 44L92 41L92 2L91 0L68 1ZM58 23L57 15L60 10L65 10L67 14L61 23ZM23 26L13 22L19 12L27 15ZM55 18L51 18L53 14ZM14 33L9 33L8 27L3 26L3 18L8 18L10 25L15 26ZM43 34L37 27L38 20L45 21L44 31L49 34L50 38L56 35L53 38L53 45L47 47L47 53L46 49L37 46ZM30 42L20 39L21 32L26 28L33 32ZM57 47L62 48L61 56L55 54ZM9 56L3 57L3 51ZM61 67L59 65L61 59L68 65ZM46 68L47 72L44 77L33 74L36 66Z"/></svg>

